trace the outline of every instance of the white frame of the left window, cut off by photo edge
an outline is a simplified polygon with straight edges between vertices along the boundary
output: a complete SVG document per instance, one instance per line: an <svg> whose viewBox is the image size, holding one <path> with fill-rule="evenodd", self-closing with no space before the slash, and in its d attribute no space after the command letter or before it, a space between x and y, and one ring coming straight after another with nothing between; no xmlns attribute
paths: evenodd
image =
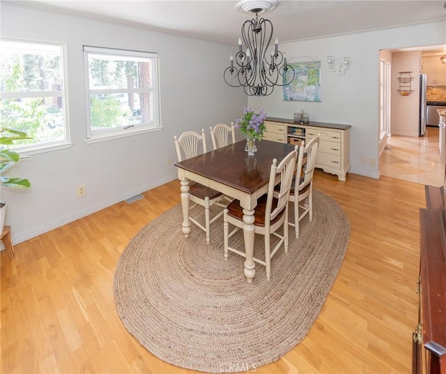
<svg viewBox="0 0 446 374"><path fill-rule="evenodd" d="M47 151L56 151L58 149L66 149L72 146L70 142L70 126L68 126L68 87L67 82L67 58L66 58L66 44L47 42L42 40L27 40L27 39L16 39L16 38L0 38L2 41L11 43L29 43L30 45L52 45L59 47L61 50L61 82L62 89L60 91L1 91L0 99L10 99L10 98L48 98L48 97L59 97L61 96L63 100L63 135L64 138L61 140L56 140L54 142L43 142L38 144L30 144L24 146L14 147L14 151L19 154L22 151L26 151L27 155L40 154ZM33 49L30 47L29 51ZM6 126L7 127L7 126Z"/></svg>

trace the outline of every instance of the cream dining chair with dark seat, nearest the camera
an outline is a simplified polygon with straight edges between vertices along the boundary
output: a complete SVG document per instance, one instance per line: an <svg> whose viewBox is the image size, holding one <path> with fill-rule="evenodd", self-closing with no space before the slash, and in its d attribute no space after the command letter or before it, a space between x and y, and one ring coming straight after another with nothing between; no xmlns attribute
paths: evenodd
<svg viewBox="0 0 446 374"><path fill-rule="evenodd" d="M272 160L270 169L270 179L268 184L268 193L263 195L257 201L256 209L254 210L254 233L261 234L264 237L265 246L265 260L254 257L253 260L266 267L266 279L270 280L271 276L271 259L277 250L284 246L285 252L288 252L289 243L289 229L288 229L288 206L289 193L291 190L291 183L293 181L293 174L295 170L295 161L297 158L297 146L294 151L291 151L282 161L277 165L277 160ZM274 196L275 184L277 174L280 174L280 190L277 197ZM224 209L224 259L228 259L229 251L246 257L243 249L236 249L229 246L229 239L243 229L243 208L240 207L240 202L234 200ZM234 225L234 229L229 232L229 224ZM283 227L283 234L277 230ZM279 239L275 247L270 248L270 235L274 235ZM242 241L243 243L243 241Z"/></svg>

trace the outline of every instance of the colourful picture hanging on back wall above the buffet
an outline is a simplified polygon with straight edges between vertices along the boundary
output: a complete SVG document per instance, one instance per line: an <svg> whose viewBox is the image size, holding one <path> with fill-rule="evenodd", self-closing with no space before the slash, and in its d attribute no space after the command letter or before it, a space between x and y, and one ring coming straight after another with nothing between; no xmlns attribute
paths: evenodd
<svg viewBox="0 0 446 374"><path fill-rule="evenodd" d="M294 71L284 75L284 101L321 101L321 61L289 63Z"/></svg>

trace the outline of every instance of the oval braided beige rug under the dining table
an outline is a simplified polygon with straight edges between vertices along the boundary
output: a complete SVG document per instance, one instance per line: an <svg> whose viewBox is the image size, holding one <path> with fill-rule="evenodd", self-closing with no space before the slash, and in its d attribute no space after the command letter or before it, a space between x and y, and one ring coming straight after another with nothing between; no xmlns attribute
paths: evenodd
<svg viewBox="0 0 446 374"><path fill-rule="evenodd" d="M114 297L125 328L156 357L182 368L236 372L276 361L312 327L348 245L350 224L339 204L314 190L313 209L311 223L300 221L299 239L290 227L289 252L282 247L272 257L271 280L256 264L252 284L244 257L229 252L224 260L222 217L211 225L207 246L194 225L185 239L180 205L167 211L118 261ZM243 248L243 231L229 245ZM261 235L254 256L264 258Z"/></svg>

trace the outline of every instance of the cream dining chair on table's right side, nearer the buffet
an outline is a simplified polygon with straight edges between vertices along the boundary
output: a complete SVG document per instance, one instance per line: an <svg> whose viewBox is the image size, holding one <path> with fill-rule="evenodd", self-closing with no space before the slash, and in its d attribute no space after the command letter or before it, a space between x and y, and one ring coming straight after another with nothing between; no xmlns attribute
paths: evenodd
<svg viewBox="0 0 446 374"><path fill-rule="evenodd" d="M314 137L306 145L302 142L298 163L295 172L289 201L294 204L294 220L289 225L294 226L295 237L299 237L299 222L307 214L309 221L313 220L313 175L316 167L316 158L318 156L319 137ZM303 164L304 155L306 163Z"/></svg>

